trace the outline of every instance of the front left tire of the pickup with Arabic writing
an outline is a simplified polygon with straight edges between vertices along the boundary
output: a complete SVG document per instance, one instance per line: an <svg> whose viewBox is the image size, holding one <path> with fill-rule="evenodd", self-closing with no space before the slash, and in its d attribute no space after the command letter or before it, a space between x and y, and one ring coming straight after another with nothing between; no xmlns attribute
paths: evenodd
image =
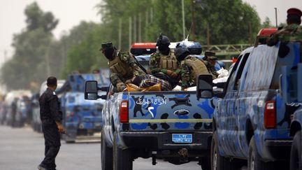
<svg viewBox="0 0 302 170"><path fill-rule="evenodd" d="M113 149L108 148L105 139L101 133L101 169L113 170Z"/></svg>

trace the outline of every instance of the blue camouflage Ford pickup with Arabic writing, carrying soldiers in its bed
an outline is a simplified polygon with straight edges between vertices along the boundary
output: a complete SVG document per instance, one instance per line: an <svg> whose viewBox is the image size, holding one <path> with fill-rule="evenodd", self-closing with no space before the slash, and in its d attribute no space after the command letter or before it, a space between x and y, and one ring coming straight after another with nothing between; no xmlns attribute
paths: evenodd
<svg viewBox="0 0 302 170"><path fill-rule="evenodd" d="M137 56L148 69L150 56ZM107 92L113 86L101 88ZM196 91L118 92L99 96L95 81L86 82L85 99L106 99L101 130L103 170L133 169L138 157L184 164L199 157L210 169L212 118L217 97L197 99ZM114 168L113 168L114 167Z"/></svg>

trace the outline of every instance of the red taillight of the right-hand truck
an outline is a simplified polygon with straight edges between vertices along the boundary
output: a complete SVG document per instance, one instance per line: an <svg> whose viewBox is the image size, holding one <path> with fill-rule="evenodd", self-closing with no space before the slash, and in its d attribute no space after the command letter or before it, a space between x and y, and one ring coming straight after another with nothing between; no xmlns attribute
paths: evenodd
<svg viewBox="0 0 302 170"><path fill-rule="evenodd" d="M275 101L266 101L264 108L264 127L266 127L266 129L276 127Z"/></svg>

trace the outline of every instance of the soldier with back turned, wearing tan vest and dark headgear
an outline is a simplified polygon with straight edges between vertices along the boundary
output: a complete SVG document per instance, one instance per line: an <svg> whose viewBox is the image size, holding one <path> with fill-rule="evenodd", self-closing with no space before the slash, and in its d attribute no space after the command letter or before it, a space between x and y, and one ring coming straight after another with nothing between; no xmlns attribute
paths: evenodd
<svg viewBox="0 0 302 170"><path fill-rule="evenodd" d="M182 80L182 90L187 87L196 86L196 78L201 74L210 74L206 64L196 57L189 55L189 50L178 46L175 49L176 59L180 62L180 75Z"/></svg>

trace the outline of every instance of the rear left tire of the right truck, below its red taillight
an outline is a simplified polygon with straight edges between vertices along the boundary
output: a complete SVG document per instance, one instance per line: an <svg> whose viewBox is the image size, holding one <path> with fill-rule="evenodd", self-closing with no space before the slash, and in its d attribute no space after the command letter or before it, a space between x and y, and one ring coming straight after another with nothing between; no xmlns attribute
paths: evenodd
<svg viewBox="0 0 302 170"><path fill-rule="evenodd" d="M257 151L254 136L250 140L250 146L247 157L247 169L248 170L269 170L273 169L273 162L263 162L261 156Z"/></svg>

